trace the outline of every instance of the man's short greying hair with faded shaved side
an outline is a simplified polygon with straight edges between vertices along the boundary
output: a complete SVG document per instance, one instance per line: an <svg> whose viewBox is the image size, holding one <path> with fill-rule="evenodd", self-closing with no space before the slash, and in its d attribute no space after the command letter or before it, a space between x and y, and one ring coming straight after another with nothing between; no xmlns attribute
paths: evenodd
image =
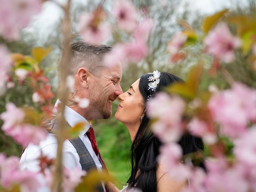
<svg viewBox="0 0 256 192"><path fill-rule="evenodd" d="M71 74L75 75L79 68L84 67L94 76L100 76L106 67L102 60L112 49L112 47L102 44L89 44L84 41L74 42L71 44Z"/></svg>

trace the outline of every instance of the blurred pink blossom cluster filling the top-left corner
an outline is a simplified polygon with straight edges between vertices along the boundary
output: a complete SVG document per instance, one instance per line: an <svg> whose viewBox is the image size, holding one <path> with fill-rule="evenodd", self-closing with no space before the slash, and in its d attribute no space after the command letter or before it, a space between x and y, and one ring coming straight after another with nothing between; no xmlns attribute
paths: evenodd
<svg viewBox="0 0 256 192"><path fill-rule="evenodd" d="M18 39L19 29L41 10L41 0L0 0L0 5L0 35L7 40Z"/></svg>

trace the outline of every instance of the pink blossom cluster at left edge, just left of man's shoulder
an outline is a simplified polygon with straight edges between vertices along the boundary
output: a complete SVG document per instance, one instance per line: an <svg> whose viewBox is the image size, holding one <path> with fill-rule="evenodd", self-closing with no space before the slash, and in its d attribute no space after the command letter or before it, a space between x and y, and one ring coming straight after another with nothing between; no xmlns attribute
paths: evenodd
<svg viewBox="0 0 256 192"><path fill-rule="evenodd" d="M30 142L39 144L41 140L45 140L47 132L38 126L24 124L24 117L24 112L16 108L13 103L6 104L6 112L0 114L0 118L4 121L2 130L24 147Z"/></svg>

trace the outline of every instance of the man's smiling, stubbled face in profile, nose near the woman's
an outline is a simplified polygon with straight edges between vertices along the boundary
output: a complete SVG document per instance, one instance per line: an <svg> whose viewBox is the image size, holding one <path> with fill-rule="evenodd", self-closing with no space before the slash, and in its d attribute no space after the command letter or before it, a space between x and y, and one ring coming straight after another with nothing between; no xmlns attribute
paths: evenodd
<svg viewBox="0 0 256 192"><path fill-rule="evenodd" d="M90 105L98 113L98 118L110 118L112 102L122 93L120 80L122 65L116 64L102 70L100 77L94 77L90 88Z"/></svg>

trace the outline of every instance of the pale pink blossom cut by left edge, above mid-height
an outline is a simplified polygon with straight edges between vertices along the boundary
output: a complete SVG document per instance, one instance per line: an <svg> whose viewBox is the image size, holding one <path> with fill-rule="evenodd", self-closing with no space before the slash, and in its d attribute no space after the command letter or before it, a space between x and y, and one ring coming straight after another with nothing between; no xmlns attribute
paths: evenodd
<svg viewBox="0 0 256 192"><path fill-rule="evenodd" d="M0 95L3 94L4 86L8 80L8 73L10 71L11 61L7 48L0 45Z"/></svg>

